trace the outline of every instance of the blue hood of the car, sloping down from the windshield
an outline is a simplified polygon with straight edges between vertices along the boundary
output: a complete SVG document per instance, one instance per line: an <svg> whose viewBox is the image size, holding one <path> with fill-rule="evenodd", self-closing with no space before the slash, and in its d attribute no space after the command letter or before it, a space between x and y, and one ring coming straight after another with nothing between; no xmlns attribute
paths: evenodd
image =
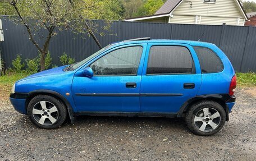
<svg viewBox="0 0 256 161"><path fill-rule="evenodd" d="M52 68L50 70L45 70L45 71L42 71L42 72L39 72L39 73L35 73L33 75L30 75L28 77L25 77L24 79L21 79L19 81L22 81L22 80L26 80L26 79L31 79L31 78L34 78L34 77L42 77L42 76L49 76L49 75L60 75L62 73L65 73L65 71L63 71L63 68L65 68L66 66L61 66L61 67L57 67L57 68ZM17 82L19 82L17 81Z"/></svg>

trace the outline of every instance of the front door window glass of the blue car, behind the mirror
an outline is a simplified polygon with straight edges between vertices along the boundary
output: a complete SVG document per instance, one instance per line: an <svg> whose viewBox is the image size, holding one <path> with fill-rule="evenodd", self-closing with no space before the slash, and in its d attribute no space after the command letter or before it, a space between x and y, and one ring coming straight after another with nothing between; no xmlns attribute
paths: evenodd
<svg viewBox="0 0 256 161"><path fill-rule="evenodd" d="M93 62L94 75L136 75L143 47L116 49Z"/></svg>

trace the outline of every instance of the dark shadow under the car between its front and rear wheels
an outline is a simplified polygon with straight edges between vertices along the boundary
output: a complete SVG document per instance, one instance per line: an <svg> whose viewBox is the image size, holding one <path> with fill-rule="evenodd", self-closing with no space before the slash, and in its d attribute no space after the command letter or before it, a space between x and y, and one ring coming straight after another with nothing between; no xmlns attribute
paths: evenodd
<svg viewBox="0 0 256 161"><path fill-rule="evenodd" d="M112 116L78 116L72 124L67 121L62 127L88 127L102 126L107 128L111 126L119 128L168 128L170 130L185 130L188 128L184 118L166 118L166 117L112 117Z"/></svg>

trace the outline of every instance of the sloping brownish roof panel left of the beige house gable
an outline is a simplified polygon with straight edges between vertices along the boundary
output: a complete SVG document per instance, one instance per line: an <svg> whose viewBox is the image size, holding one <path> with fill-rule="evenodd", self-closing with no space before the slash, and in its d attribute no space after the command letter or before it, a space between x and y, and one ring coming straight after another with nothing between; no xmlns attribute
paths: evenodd
<svg viewBox="0 0 256 161"><path fill-rule="evenodd" d="M165 14L170 13L172 10L174 10L175 7L179 5L179 3L182 0L167 0L159 10L155 13L155 15L158 14Z"/></svg>

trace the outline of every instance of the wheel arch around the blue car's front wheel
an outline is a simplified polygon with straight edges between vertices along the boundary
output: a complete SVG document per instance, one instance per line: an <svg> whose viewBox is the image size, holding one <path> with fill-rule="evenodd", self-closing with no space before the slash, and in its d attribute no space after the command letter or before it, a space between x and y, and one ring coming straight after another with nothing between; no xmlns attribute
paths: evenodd
<svg viewBox="0 0 256 161"><path fill-rule="evenodd" d="M70 121L72 123L75 121L74 112L72 110L71 104L68 102L68 100L63 95L61 95L57 91L53 91L53 90L34 90L34 91L31 91L29 93L28 98L26 99L26 106L25 106L26 109L28 109L28 104L29 104L31 99L33 99L36 95L42 95L42 94L51 95L54 98L60 99L66 105Z"/></svg>

